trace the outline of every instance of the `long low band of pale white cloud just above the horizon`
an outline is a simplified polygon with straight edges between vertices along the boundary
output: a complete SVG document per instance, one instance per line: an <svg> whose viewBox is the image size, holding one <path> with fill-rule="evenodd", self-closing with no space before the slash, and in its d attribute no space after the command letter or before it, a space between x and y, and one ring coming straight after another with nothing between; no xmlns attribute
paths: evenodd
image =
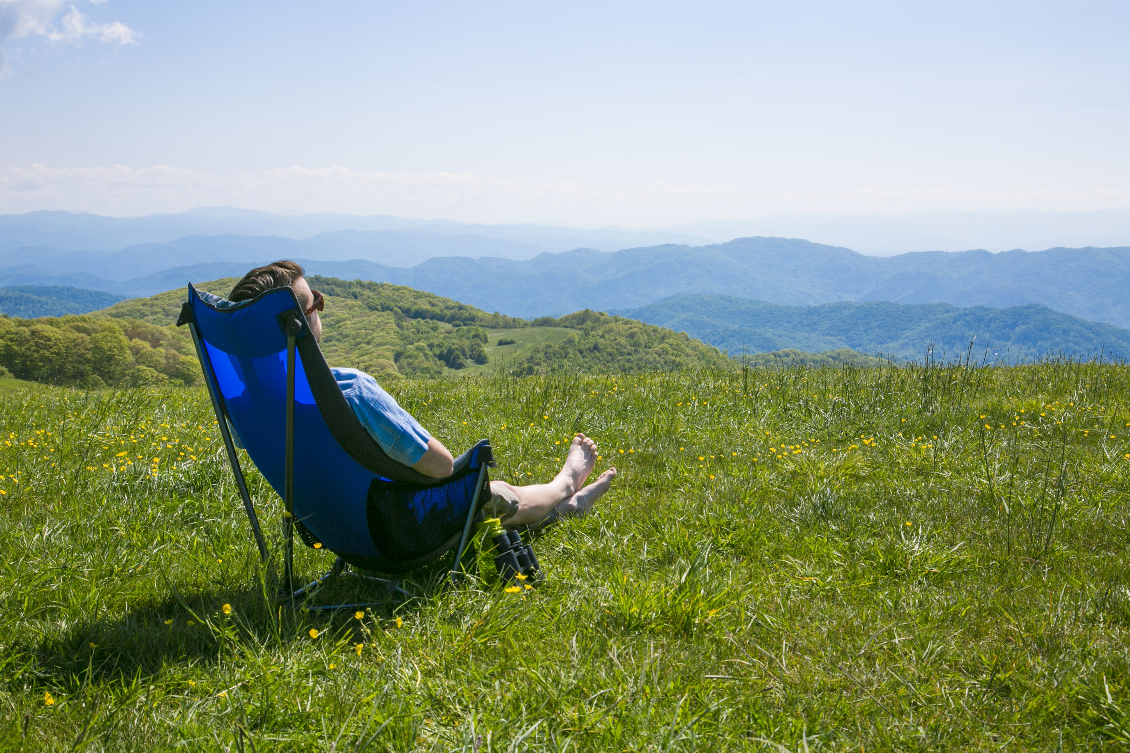
<svg viewBox="0 0 1130 753"><path fill-rule="evenodd" d="M132 217L217 204L278 213L327 211L479 222L658 227L776 211L1130 209L1130 192L947 187L790 192L660 181L609 185L471 173L363 173L345 167L287 167L229 175L164 165L0 169L0 213L63 209Z"/></svg>

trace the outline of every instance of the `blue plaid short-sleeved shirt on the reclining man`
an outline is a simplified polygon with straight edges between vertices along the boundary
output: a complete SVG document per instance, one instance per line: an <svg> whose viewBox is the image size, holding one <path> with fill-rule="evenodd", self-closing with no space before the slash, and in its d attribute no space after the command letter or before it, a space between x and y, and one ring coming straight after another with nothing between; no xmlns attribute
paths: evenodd
<svg viewBox="0 0 1130 753"><path fill-rule="evenodd" d="M357 369L330 369L346 402L362 426L389 457L403 465L416 465L427 452L432 435L384 392L376 379Z"/></svg>

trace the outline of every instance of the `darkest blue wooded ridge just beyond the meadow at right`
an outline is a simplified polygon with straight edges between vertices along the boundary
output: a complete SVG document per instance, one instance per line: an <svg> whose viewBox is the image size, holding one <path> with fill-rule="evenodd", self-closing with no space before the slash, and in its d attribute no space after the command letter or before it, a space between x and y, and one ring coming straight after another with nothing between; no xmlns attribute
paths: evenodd
<svg viewBox="0 0 1130 753"><path fill-rule="evenodd" d="M1130 331L1026 304L1007 308L950 304L840 301L781 306L733 296L679 295L612 314L686 332L731 356L797 349L850 348L864 353L921 360L930 343L936 358L988 349L992 360L1017 361L1057 353L1086 356L1099 349L1130 357Z"/></svg>

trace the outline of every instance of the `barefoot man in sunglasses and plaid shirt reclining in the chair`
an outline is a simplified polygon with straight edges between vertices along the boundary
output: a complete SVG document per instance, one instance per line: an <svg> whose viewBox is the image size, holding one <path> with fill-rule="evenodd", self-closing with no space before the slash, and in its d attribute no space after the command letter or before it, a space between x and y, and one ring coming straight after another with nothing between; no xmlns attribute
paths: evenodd
<svg viewBox="0 0 1130 753"><path fill-rule="evenodd" d="M322 319L318 313L324 307L324 300L320 292L310 289L304 274L302 266L290 261L255 268L236 283L228 300L247 300L272 288L289 287L306 314L311 334L321 342ZM365 430L389 457L434 479L451 475L452 457L447 448L397 404L376 379L357 369L330 370ZM544 526L559 517L585 515L616 478L616 469L608 469L585 485L596 463L597 444L579 434L570 445L560 472L549 483L515 487L505 481L492 481L490 501L484 507L484 514L501 518L507 526Z"/></svg>

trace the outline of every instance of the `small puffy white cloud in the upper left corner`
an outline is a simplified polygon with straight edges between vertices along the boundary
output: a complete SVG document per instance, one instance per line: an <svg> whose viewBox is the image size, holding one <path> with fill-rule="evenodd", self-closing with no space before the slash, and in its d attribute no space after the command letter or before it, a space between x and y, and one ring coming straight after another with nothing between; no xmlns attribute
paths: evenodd
<svg viewBox="0 0 1130 753"><path fill-rule="evenodd" d="M105 0L90 0L102 5ZM59 18L67 6L66 15ZM56 23L58 19L58 23ZM55 44L78 44L86 38L106 44L137 44L141 33L121 21L98 24L67 0L0 0L0 45L11 38L43 37ZM3 59L0 56L0 69Z"/></svg>

